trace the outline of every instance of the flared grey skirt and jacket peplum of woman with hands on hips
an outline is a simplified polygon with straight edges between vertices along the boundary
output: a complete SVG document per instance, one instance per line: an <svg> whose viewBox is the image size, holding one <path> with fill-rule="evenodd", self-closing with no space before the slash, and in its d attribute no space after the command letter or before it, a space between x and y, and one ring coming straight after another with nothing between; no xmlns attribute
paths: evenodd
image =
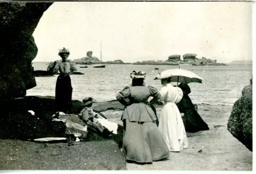
<svg viewBox="0 0 256 174"><path fill-rule="evenodd" d="M144 103L124 109L123 148L128 161L152 163L169 156L169 150L156 125L154 111Z"/></svg>

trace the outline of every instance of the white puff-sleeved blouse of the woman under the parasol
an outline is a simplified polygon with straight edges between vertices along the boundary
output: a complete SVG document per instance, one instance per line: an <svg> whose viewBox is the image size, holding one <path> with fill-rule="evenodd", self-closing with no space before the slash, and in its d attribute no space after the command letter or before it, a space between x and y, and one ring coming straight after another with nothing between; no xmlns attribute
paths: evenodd
<svg viewBox="0 0 256 174"><path fill-rule="evenodd" d="M183 92L179 87L174 87L170 83L162 87L160 91L160 101L179 103L183 97Z"/></svg>

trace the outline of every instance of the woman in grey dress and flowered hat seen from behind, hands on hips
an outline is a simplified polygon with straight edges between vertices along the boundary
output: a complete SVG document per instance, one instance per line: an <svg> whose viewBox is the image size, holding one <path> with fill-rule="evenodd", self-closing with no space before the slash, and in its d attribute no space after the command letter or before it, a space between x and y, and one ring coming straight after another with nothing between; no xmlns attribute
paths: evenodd
<svg viewBox="0 0 256 174"><path fill-rule="evenodd" d="M158 90L145 85L146 73L130 73L132 85L124 87L116 99L125 106L121 120L124 123L123 149L126 159L138 163L152 163L169 156L169 150L156 125L157 117L147 105L160 97Z"/></svg>

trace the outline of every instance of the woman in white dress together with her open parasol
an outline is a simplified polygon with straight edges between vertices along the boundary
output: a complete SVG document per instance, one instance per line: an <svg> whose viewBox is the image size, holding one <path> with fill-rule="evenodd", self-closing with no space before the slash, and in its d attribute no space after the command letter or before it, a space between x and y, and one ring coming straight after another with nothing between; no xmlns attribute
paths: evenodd
<svg viewBox="0 0 256 174"><path fill-rule="evenodd" d="M191 82L202 83L203 79L191 71L184 69L169 69L163 71L162 73L159 73L155 79L161 79L163 87L160 91L160 100L165 101L159 118L159 130L164 134L169 150L179 152L184 148L188 148L188 142L184 123L176 104L182 100L184 95L187 95L187 90L182 85L174 87L171 85L171 82L181 84L188 84ZM182 91L180 87L182 87L184 91ZM185 117L189 116L190 115L186 115ZM188 129L188 125L186 125L186 129Z"/></svg>

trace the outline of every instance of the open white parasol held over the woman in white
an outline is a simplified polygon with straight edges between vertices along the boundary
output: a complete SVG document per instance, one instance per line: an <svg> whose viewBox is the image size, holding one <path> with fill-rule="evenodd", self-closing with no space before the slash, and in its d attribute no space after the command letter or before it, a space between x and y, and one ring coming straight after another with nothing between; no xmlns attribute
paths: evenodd
<svg viewBox="0 0 256 174"><path fill-rule="evenodd" d="M188 71L185 69L168 69L166 71L163 71L162 73L159 73L159 75L156 76L154 80L165 79L168 77L172 77L170 80L171 82L184 83L184 84L188 84L192 82L202 83L202 80L204 80L198 75L196 75L195 73L192 73L191 71Z"/></svg>

